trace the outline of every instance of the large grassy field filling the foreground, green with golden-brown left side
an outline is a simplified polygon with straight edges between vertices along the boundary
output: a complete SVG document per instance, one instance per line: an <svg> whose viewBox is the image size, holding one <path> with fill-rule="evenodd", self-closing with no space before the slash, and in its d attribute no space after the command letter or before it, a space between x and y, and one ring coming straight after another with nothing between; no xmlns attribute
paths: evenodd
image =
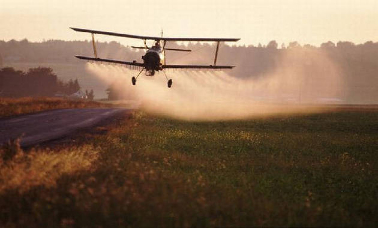
<svg viewBox="0 0 378 228"><path fill-rule="evenodd" d="M377 130L376 109L134 112L54 149L3 148L0 226L375 226Z"/></svg>

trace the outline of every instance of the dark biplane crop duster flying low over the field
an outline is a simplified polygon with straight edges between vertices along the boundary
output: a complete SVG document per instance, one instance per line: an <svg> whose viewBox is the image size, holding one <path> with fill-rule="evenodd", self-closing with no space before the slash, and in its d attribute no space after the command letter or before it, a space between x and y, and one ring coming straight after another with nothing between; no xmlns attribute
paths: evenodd
<svg viewBox="0 0 378 228"><path fill-rule="evenodd" d="M92 34L92 44L93 44L93 53L95 57L87 57L87 56L75 56L79 59L84 60L91 60L91 61L98 61L98 62L108 62L108 63L115 63L121 65L129 65L135 67L141 67L142 70L139 71L136 77L132 77L132 84L136 84L136 79L142 73L143 70L146 70L146 76L153 76L155 71L163 71L164 75L166 76L168 87L172 86L172 79L168 79L164 69L232 69L235 66L227 66L227 65L217 65L217 56L219 50L219 43L220 42L236 42L240 39L227 39L227 38L172 38L172 37L163 37L163 32L161 37L153 37L153 36L136 36L136 35L129 35L129 34L121 34L121 33L110 33L104 31L96 31L90 29L82 29L82 28L71 28L74 31L83 32L83 33L91 33ZM142 56L143 63L136 62L125 62L121 60L114 60L114 59L102 59L97 56L96 44L95 44L95 37L94 34L103 34L109 36L119 36L119 37L129 37L135 39L144 40L144 47L134 47L132 48L142 48L146 50L146 54ZM146 40L154 40L155 45L152 47L148 47L146 44ZM166 48L166 44L168 41L206 41L206 42L217 42L217 48L215 50L215 57L214 57L214 64L213 65L167 65L165 61L166 51L191 51L187 49L176 49L176 48Z"/></svg>

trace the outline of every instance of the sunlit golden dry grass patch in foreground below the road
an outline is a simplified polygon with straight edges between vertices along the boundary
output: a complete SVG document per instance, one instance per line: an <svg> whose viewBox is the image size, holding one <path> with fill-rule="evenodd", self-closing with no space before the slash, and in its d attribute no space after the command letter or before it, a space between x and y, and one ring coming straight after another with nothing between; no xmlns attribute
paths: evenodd
<svg viewBox="0 0 378 228"><path fill-rule="evenodd" d="M56 180L63 175L88 171L98 158L98 150L85 145L25 153L19 140L15 140L3 146L0 155L0 195L12 189L22 194L36 186L56 187Z"/></svg>

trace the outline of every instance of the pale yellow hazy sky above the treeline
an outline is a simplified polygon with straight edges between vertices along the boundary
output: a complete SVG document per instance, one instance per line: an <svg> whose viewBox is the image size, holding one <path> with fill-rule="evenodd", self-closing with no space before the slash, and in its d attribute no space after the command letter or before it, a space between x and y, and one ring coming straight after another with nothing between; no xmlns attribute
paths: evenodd
<svg viewBox="0 0 378 228"><path fill-rule="evenodd" d="M377 0L0 0L0 40L84 40L68 27L175 37L241 38L239 45L378 41ZM97 36L123 44L139 41Z"/></svg>

